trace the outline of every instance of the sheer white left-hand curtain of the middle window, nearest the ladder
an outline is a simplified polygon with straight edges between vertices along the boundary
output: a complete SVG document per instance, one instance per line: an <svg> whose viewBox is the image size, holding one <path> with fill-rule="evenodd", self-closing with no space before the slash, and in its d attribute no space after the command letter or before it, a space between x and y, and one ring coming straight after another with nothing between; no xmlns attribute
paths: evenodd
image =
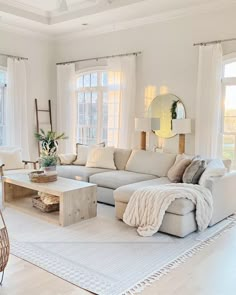
<svg viewBox="0 0 236 295"><path fill-rule="evenodd" d="M57 66L57 133L64 132L68 139L61 140L60 153L75 151L76 99L75 65Z"/></svg>

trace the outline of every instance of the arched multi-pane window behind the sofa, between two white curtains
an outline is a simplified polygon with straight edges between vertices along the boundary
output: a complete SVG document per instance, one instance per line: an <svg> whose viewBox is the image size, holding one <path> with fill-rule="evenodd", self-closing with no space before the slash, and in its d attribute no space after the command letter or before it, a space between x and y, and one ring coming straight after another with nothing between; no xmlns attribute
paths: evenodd
<svg viewBox="0 0 236 295"><path fill-rule="evenodd" d="M84 72L77 77L77 142L105 142L117 146L119 75L107 71ZM108 86L109 85L109 86Z"/></svg>

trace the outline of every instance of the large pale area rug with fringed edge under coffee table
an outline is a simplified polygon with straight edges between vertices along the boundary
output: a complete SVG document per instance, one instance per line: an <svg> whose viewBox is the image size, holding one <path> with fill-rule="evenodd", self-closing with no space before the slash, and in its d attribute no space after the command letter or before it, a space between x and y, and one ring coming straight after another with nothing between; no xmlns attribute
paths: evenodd
<svg viewBox="0 0 236 295"><path fill-rule="evenodd" d="M114 216L113 207L99 205L98 217L62 228L4 210L13 255L99 295L140 292L235 224L230 218L184 239L143 238Z"/></svg>

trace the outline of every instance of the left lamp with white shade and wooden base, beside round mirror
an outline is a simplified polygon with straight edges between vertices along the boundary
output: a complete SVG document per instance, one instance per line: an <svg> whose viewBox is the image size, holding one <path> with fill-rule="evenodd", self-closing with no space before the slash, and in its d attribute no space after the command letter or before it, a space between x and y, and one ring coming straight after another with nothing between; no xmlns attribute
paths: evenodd
<svg viewBox="0 0 236 295"><path fill-rule="evenodd" d="M141 131L141 150L146 150L146 133L160 129L159 118L135 118L135 130Z"/></svg>

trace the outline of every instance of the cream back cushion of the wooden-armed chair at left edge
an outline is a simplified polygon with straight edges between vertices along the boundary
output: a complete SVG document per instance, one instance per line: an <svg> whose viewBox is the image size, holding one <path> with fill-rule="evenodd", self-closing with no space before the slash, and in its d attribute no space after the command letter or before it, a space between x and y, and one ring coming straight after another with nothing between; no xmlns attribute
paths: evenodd
<svg viewBox="0 0 236 295"><path fill-rule="evenodd" d="M0 163L5 164L4 169L6 170L23 169L21 149L0 150Z"/></svg>

